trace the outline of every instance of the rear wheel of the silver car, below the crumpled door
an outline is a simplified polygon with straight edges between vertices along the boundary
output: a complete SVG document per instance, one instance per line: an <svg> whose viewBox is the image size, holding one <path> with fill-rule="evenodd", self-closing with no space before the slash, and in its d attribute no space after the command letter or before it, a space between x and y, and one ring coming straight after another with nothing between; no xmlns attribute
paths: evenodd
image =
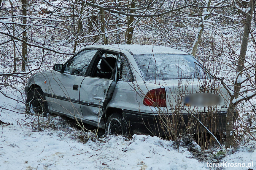
<svg viewBox="0 0 256 170"><path fill-rule="evenodd" d="M105 126L106 135L125 135L127 133L126 123L120 114L111 114Z"/></svg>

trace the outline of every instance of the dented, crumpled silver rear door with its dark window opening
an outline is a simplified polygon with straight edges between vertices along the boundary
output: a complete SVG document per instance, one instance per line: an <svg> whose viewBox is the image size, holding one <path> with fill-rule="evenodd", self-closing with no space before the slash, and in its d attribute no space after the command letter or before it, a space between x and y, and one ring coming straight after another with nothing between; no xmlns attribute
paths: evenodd
<svg viewBox="0 0 256 170"><path fill-rule="evenodd" d="M115 89L118 52L101 50L93 60L88 76L82 81L80 105L83 118L92 123L99 123L102 108L109 100L109 93ZM105 101L105 102L104 102Z"/></svg>

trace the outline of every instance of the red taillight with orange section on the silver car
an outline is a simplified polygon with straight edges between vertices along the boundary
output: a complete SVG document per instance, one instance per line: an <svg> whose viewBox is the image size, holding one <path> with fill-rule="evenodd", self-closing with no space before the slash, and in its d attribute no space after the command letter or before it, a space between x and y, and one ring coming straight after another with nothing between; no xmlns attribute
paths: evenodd
<svg viewBox="0 0 256 170"><path fill-rule="evenodd" d="M147 92L143 104L146 106L166 107L165 89L157 88Z"/></svg>

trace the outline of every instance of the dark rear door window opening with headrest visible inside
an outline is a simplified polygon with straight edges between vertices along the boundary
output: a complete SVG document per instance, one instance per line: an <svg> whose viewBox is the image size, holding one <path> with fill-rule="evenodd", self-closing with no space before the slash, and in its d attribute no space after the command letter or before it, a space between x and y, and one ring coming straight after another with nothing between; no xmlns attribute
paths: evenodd
<svg viewBox="0 0 256 170"><path fill-rule="evenodd" d="M115 76L115 64L118 53L100 51L96 57L90 76L105 79L113 79Z"/></svg>

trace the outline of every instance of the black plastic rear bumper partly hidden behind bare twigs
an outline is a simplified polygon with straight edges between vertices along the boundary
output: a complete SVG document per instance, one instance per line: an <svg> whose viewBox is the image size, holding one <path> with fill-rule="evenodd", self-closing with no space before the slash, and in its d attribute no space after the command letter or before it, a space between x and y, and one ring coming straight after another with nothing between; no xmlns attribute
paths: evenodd
<svg viewBox="0 0 256 170"><path fill-rule="evenodd" d="M226 127L227 111L193 114L211 132L223 132ZM236 114L234 114L236 115ZM168 135L170 132L182 133L185 130L205 132L206 129L191 114L149 114L123 110L123 117L131 132L150 135ZM234 117L235 121L236 117Z"/></svg>

